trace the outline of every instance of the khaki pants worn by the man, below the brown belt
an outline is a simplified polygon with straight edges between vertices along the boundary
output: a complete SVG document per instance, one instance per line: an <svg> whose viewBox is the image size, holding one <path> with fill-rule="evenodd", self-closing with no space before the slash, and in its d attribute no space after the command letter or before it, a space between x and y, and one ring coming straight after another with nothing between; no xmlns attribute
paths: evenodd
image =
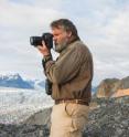
<svg viewBox="0 0 129 137"><path fill-rule="evenodd" d="M89 106L63 103L53 106L50 137L82 137Z"/></svg>

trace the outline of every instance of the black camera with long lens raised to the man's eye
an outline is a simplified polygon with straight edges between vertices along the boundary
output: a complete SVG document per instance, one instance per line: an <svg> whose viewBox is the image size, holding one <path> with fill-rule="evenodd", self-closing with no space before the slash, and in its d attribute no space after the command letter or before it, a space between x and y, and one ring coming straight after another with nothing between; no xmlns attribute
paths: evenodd
<svg viewBox="0 0 129 137"><path fill-rule="evenodd" d="M33 46L37 46L37 45L42 45L42 41L45 42L45 45L47 46L47 49L52 49L53 48L53 34L51 33L43 33L42 36L31 36L30 38L30 43Z"/></svg>

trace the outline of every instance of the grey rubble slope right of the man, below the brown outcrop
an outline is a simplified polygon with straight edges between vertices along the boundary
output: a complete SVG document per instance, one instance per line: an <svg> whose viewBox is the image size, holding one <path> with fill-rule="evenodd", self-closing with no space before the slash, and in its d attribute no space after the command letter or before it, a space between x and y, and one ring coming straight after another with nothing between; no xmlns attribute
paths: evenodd
<svg viewBox="0 0 129 137"><path fill-rule="evenodd" d="M129 96L98 99L99 106L89 114L85 137L128 137Z"/></svg>

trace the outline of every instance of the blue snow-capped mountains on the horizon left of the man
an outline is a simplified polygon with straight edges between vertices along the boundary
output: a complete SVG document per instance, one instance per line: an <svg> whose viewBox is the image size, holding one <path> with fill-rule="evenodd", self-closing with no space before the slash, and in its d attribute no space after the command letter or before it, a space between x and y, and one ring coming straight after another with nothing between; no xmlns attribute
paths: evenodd
<svg viewBox="0 0 129 137"><path fill-rule="evenodd" d="M15 74L1 74L0 86L2 87L17 87L28 89L42 89L44 81L40 80L23 80L19 73Z"/></svg>

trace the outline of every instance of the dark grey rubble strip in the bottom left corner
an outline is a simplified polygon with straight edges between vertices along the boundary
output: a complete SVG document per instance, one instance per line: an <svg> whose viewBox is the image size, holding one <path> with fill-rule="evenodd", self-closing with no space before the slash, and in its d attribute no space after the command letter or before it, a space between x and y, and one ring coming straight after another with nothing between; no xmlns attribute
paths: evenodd
<svg viewBox="0 0 129 137"><path fill-rule="evenodd" d="M0 137L49 137L49 134L43 125L0 125Z"/></svg>

